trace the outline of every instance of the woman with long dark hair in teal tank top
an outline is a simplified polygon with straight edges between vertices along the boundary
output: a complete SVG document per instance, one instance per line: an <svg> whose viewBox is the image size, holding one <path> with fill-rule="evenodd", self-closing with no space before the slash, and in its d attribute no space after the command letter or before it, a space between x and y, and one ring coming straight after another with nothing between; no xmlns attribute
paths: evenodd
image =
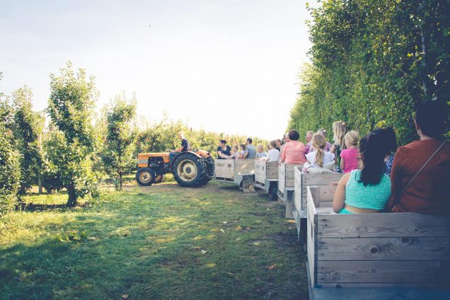
<svg viewBox="0 0 450 300"><path fill-rule="evenodd" d="M379 132L359 141L361 170L342 176L337 184L333 210L339 214L382 212L391 197L391 179L384 173L385 146Z"/></svg>

